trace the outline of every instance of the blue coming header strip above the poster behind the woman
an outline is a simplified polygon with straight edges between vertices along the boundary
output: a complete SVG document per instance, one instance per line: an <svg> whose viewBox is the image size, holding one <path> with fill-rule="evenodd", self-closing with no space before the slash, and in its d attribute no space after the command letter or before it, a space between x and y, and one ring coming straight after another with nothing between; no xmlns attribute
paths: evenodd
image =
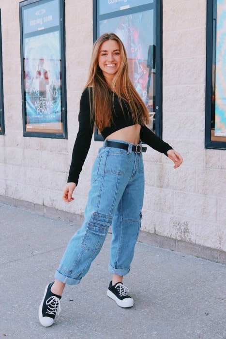
<svg viewBox="0 0 226 339"><path fill-rule="evenodd" d="M154 0L99 0L100 15L146 5L153 3L153 1Z"/></svg>

